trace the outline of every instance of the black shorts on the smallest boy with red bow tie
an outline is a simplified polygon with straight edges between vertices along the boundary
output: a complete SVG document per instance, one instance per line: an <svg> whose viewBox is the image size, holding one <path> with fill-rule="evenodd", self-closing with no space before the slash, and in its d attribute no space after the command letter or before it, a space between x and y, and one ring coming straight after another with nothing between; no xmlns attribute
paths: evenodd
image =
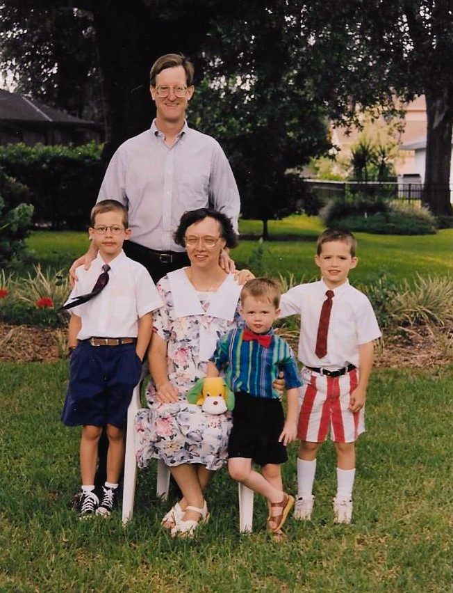
<svg viewBox="0 0 453 593"><path fill-rule="evenodd" d="M253 459L260 466L283 464L288 454L285 445L279 443L285 424L280 400L252 397L243 391L235 395L228 457Z"/></svg>

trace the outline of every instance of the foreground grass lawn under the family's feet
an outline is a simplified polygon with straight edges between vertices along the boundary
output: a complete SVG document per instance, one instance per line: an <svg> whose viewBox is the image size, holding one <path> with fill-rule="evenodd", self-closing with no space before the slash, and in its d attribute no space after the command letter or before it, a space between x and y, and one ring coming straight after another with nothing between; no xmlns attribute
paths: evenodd
<svg viewBox="0 0 453 593"><path fill-rule="evenodd" d="M318 459L313 521L288 519L287 541L238 533L237 486L208 488L211 521L194 541L159 521L156 468L142 471L135 514L79 521L79 429L59 420L67 363L0 364L1 592L402 592L451 590L453 369L378 370L358 444L354 523L334 525L335 459ZM283 476L296 489L296 448ZM99 519L99 520L98 520Z"/></svg>

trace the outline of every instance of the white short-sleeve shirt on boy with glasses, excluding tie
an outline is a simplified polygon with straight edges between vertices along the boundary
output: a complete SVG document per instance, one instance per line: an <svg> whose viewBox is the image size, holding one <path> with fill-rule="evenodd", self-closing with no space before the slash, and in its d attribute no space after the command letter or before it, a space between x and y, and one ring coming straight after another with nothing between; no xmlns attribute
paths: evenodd
<svg viewBox="0 0 453 593"><path fill-rule="evenodd" d="M92 291L102 266L105 264L101 255L92 261L90 269L80 266L76 270L77 278L74 290L67 299ZM71 309L82 320L79 340L87 338L136 338L138 319L163 306L156 285L145 267L126 257L122 251L108 262L109 280L96 297Z"/></svg>

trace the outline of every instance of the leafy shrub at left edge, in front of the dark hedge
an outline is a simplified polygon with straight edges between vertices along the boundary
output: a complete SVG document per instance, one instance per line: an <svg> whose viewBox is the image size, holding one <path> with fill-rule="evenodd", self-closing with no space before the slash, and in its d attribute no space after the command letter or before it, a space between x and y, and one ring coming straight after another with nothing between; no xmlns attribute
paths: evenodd
<svg viewBox="0 0 453 593"><path fill-rule="evenodd" d="M33 206L28 201L24 184L0 171L0 265L24 252Z"/></svg>

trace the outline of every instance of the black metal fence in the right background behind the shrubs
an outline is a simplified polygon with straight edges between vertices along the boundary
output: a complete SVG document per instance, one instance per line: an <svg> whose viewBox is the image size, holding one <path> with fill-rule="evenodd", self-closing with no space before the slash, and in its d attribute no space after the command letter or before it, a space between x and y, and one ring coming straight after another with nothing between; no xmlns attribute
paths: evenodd
<svg viewBox="0 0 453 593"><path fill-rule="evenodd" d="M311 191L321 203L327 203L329 200L354 200L359 196L367 198L386 198L388 200L398 200L414 206L422 205L421 183L402 183L402 182L359 182L359 181L330 181L318 179L306 179L305 182ZM453 185L445 186L436 184L431 187L431 191L445 193L450 191L453 197Z"/></svg>

